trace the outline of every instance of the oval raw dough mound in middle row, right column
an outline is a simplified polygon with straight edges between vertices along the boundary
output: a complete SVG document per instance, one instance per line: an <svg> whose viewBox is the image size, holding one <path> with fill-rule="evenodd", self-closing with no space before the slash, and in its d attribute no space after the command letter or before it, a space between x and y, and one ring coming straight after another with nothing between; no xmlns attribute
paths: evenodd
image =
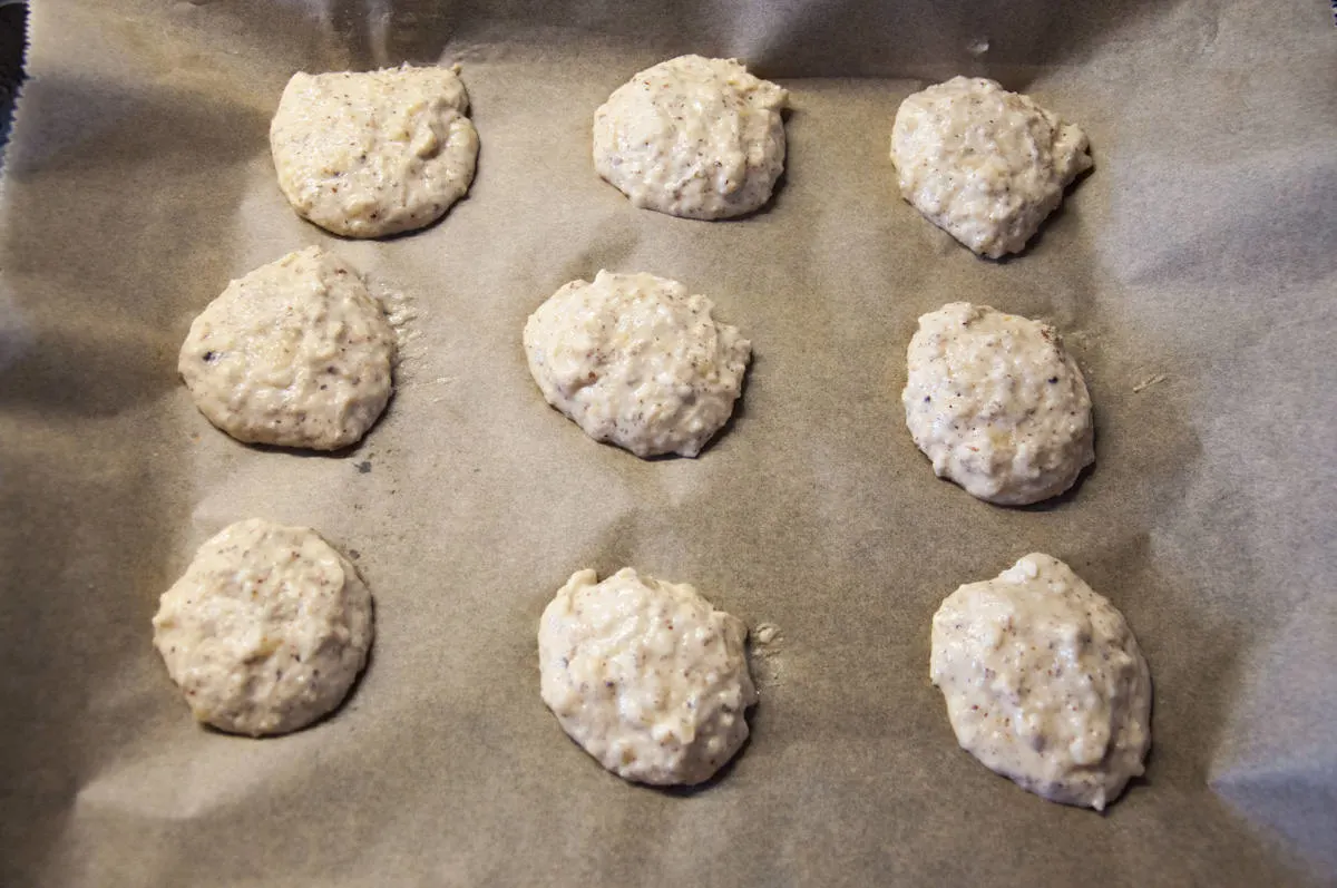
<svg viewBox="0 0 1337 888"><path fill-rule="evenodd" d="M906 369L915 443L973 496L1038 503L1095 461L1086 380L1047 324L951 302L920 317Z"/></svg>

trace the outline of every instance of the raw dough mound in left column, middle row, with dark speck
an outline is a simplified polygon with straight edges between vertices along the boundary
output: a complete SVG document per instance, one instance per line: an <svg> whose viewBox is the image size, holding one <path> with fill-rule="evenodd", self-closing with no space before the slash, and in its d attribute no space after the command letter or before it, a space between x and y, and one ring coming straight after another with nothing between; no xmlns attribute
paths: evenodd
<svg viewBox="0 0 1337 888"><path fill-rule="evenodd" d="M394 352L362 278L313 246L229 284L190 325L178 369L237 440L336 451L385 409Z"/></svg>

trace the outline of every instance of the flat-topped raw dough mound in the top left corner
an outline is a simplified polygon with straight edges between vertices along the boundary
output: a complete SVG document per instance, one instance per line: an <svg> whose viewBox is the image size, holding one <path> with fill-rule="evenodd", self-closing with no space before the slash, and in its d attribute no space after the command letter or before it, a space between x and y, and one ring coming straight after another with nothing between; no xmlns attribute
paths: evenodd
<svg viewBox="0 0 1337 888"><path fill-rule="evenodd" d="M353 238L441 218L473 181L479 134L455 68L294 74L269 127L299 215Z"/></svg>

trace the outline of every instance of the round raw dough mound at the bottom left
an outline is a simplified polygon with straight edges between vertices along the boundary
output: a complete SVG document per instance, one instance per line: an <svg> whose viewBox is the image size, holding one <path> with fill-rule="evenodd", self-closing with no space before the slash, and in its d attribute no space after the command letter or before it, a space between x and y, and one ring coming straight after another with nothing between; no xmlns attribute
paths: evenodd
<svg viewBox="0 0 1337 888"><path fill-rule="evenodd" d="M372 646L372 594L316 531L253 518L201 546L163 594L154 646L197 719L285 734L353 686Z"/></svg>

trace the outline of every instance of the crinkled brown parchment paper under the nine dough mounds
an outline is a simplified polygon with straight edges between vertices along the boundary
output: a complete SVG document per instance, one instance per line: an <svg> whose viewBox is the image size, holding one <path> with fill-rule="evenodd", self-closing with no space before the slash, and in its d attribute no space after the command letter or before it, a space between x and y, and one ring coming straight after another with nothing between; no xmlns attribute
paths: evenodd
<svg viewBox="0 0 1337 888"><path fill-rule="evenodd" d="M1334 40L1298 0L36 0L0 239L0 881L1334 884ZM591 169L594 108L687 51L792 90L751 218L639 211ZM477 179L427 231L338 241L279 195L269 118L297 70L404 60L464 66ZM1094 146L1007 262L886 156L900 100L957 72ZM340 456L231 441L175 373L229 278L310 243L416 313ZM600 267L754 341L701 459L596 445L529 380L524 318ZM959 298L1067 332L1099 427L1075 492L995 508L915 449L904 349ZM320 528L377 599L349 703L267 741L193 724L150 645L194 548L253 515ZM928 682L941 598L1032 550L1151 663L1147 776L1104 814L987 772ZM539 699L544 603L623 564L779 629L750 744L698 790L604 773Z"/></svg>

